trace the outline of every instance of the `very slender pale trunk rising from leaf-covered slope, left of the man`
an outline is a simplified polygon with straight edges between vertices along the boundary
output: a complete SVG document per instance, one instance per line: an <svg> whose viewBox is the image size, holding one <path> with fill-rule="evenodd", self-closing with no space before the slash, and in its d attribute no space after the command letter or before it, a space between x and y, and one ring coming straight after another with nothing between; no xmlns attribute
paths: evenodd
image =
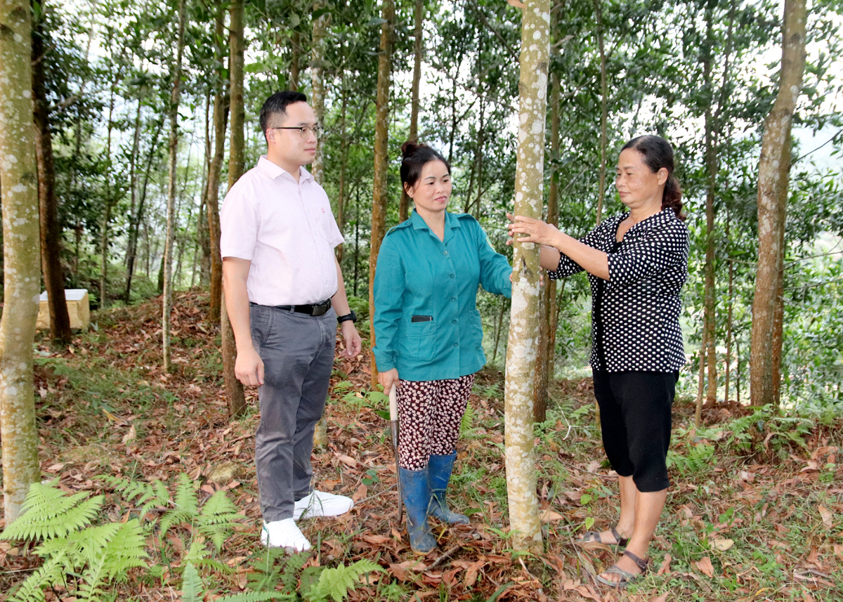
<svg viewBox="0 0 843 602"><path fill-rule="evenodd" d="M167 185L167 235L164 244L164 311L161 317L161 336L164 372L172 372L172 352L169 346L169 318L173 311L173 245L175 244L175 185L178 178L176 159L179 158L179 100L181 99L181 57L185 49L185 0L179 0L178 37L175 43L173 92L169 99L169 183Z"/></svg>

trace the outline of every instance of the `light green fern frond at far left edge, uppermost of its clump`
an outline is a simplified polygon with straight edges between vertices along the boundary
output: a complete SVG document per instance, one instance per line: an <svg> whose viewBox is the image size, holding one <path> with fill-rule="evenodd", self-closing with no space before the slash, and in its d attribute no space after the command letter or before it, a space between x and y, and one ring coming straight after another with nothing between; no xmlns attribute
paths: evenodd
<svg viewBox="0 0 843 602"><path fill-rule="evenodd" d="M102 496L86 497L88 492L68 496L52 485L33 483L26 494L23 515L3 529L0 540L46 540L83 529L103 503Z"/></svg>

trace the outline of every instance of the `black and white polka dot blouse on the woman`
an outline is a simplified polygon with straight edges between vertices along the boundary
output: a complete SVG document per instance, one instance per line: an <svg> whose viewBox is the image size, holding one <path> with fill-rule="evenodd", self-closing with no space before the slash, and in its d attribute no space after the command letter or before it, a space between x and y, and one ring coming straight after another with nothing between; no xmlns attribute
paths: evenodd
<svg viewBox="0 0 843 602"><path fill-rule="evenodd" d="M685 365L679 292L688 277L688 228L666 208L632 226L608 218L580 242L609 255L609 281L588 274L592 292L591 365L608 372L673 372ZM561 254L554 280L583 271Z"/></svg>

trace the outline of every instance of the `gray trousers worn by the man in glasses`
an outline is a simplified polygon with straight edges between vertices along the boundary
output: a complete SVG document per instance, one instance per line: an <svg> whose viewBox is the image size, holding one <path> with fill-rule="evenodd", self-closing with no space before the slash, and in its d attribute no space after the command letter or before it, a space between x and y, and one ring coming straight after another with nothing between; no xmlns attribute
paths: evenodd
<svg viewBox="0 0 843 602"><path fill-rule="evenodd" d="M292 518L293 502L312 491L310 452L334 365L336 313L312 316L251 304L250 325L264 363L255 465L260 512L269 523Z"/></svg>

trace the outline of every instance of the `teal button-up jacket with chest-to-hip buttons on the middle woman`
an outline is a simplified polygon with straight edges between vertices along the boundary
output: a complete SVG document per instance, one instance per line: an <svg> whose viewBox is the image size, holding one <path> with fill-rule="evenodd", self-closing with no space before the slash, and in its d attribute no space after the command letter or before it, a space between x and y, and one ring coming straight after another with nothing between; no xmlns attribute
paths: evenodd
<svg viewBox="0 0 843 602"><path fill-rule="evenodd" d="M414 210L389 230L374 277L375 361L405 380L457 379L486 363L477 287L512 296L513 269L475 218L445 213L439 240ZM414 315L432 320L412 321Z"/></svg>

